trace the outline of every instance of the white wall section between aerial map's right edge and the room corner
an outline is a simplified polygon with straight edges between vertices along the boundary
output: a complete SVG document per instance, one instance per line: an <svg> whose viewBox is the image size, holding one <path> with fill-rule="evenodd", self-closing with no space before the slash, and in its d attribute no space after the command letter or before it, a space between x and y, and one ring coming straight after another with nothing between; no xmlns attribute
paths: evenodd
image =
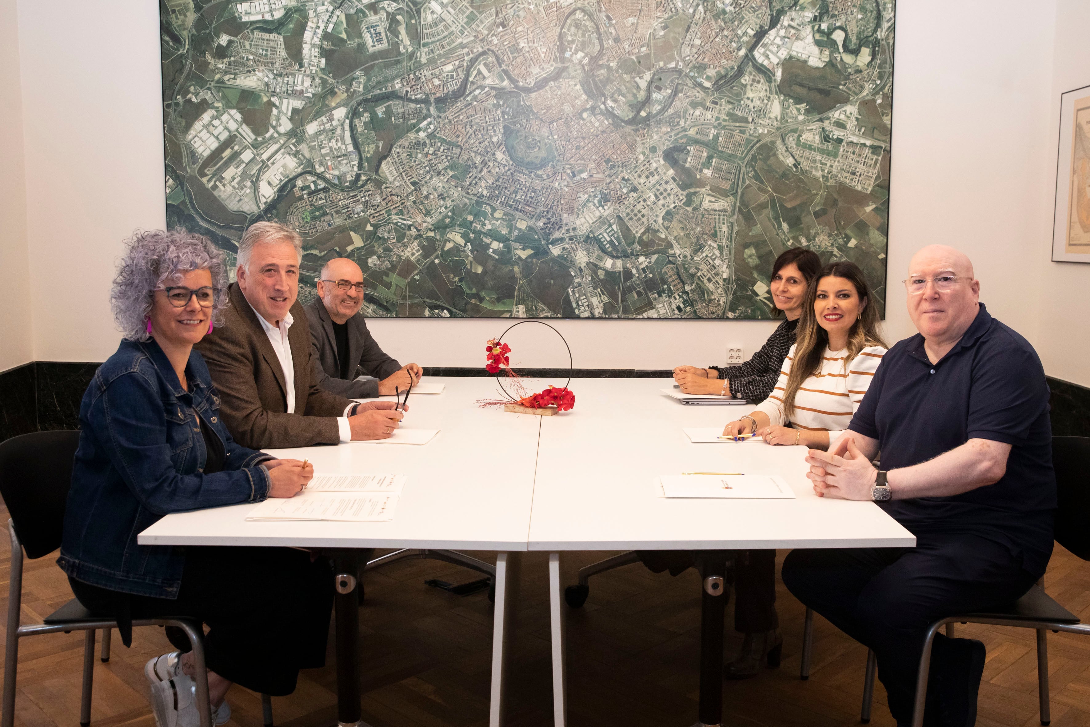
<svg viewBox="0 0 1090 727"><path fill-rule="evenodd" d="M1055 147L1042 110L1053 104L1054 13L1055 0L898 2L891 338L915 332L899 284L909 259L943 243L972 258L989 311L1036 343L1031 291L1052 231Z"/></svg>

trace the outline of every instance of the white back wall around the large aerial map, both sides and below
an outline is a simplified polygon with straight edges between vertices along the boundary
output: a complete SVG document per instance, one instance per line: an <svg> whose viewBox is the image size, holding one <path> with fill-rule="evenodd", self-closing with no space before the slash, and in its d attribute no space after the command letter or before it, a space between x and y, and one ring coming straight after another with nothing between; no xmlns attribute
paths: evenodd
<svg viewBox="0 0 1090 727"><path fill-rule="evenodd" d="M11 0L0 0L11 2ZM1080 0L1061 0L1075 12ZM894 76L889 301L892 340L912 332L898 281L931 242L965 250L983 300L1031 341L1043 325L1030 291L1049 259L1056 0L900 0ZM158 19L141 0L19 0L26 124L27 217L39 361L112 352L108 291L120 240L164 223ZM1070 45L1076 44L1070 29ZM1045 81L1042 82L1042 78ZM1049 264L1051 265L1051 264ZM74 305L46 283L86 280ZM1012 281L1020 294L1001 296ZM376 319L384 348L425 365L481 365L501 320ZM767 322L598 322L554 325L576 365L657 368L752 353ZM522 327L525 330L529 326ZM554 365L547 337L524 365ZM1083 359L1086 360L1086 359ZM1053 373L1050 369L1050 373ZM1059 375L1059 374L1056 374ZM1078 380L1068 373L1064 376ZM1086 378L1086 376L1083 376Z"/></svg>

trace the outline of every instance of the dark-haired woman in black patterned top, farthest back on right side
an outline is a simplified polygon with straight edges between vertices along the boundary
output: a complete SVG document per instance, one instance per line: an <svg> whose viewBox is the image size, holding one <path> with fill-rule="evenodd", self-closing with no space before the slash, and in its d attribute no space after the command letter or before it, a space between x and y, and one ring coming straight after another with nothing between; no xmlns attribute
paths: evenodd
<svg viewBox="0 0 1090 727"><path fill-rule="evenodd" d="M686 393L707 393L750 401L764 401L779 376L787 350L795 343L795 330L802 313L807 283L821 269L821 258L806 247L791 247L772 266L772 315L785 316L761 350L738 366L678 366L674 380Z"/></svg>

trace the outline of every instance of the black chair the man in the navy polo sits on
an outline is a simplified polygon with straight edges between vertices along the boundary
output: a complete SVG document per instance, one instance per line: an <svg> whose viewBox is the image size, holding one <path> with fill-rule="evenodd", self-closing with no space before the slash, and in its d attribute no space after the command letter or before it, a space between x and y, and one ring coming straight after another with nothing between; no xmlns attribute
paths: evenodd
<svg viewBox="0 0 1090 727"><path fill-rule="evenodd" d="M1086 526L1087 517L1090 516L1090 475L1087 474L1087 465L1090 464L1090 437L1053 437L1052 463L1056 470L1056 498L1059 506L1056 511L1056 542L1079 558L1090 560L1090 530ZM808 608L802 639L802 667L799 675L802 679L807 679L810 675L812 618L812 611ZM945 626L946 635L953 638L954 623L989 623L1037 631L1037 682L1041 724L1049 725L1052 719L1049 710L1049 631L1090 634L1090 625L1080 623L1078 616L1053 601L1039 582L1013 604L986 611L949 616L938 619L929 627L923 640L923 654L920 657L920 670L917 676L912 727L923 726L923 705L928 696L928 677L931 671L931 645L935 633ZM874 664L874 652L869 651L863 683L863 722L870 722L871 716Z"/></svg>

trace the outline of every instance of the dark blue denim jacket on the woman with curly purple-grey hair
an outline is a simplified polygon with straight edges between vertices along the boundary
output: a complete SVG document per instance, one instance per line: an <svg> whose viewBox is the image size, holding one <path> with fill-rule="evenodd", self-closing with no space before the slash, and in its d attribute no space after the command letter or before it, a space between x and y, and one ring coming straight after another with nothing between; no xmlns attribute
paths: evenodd
<svg viewBox="0 0 1090 727"><path fill-rule="evenodd" d="M219 396L194 350L190 390L154 340L121 341L98 367L80 405L80 447L57 564L77 581L111 591L177 598L183 548L140 545L136 535L165 514L265 499L272 459L234 443ZM199 426L223 443L221 472L204 474Z"/></svg>

